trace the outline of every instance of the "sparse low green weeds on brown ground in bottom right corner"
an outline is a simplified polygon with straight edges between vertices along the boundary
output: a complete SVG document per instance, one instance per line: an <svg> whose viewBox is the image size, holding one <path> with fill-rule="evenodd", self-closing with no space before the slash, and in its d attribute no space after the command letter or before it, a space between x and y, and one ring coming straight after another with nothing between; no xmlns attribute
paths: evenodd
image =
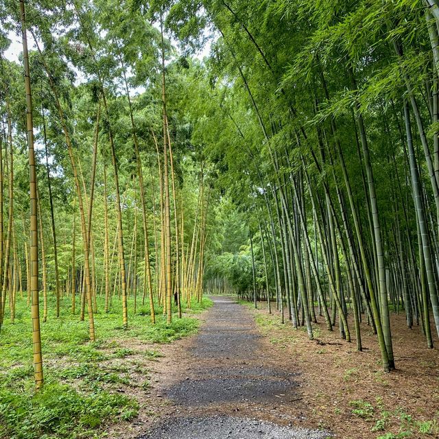
<svg viewBox="0 0 439 439"><path fill-rule="evenodd" d="M407 414L402 407L387 410L381 398L372 404L362 399L349 403L351 413L371 424L370 431L377 439L420 439L439 436L439 412L431 420L419 420Z"/></svg>

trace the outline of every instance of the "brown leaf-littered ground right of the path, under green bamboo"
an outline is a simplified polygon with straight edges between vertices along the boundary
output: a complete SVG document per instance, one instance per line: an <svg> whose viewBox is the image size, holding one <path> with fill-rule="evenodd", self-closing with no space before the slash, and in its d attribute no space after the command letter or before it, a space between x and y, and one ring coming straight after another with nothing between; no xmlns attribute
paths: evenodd
<svg viewBox="0 0 439 439"><path fill-rule="evenodd" d="M405 313L392 313L396 370L383 372L376 335L361 323L363 351L340 339L338 327L328 332L324 319L305 328L281 323L265 302L252 309L259 331L274 346L273 356L288 359L300 372L302 410L311 427L324 427L343 439L439 438L439 340L426 348L419 327L408 329ZM352 313L348 320L354 331Z"/></svg>

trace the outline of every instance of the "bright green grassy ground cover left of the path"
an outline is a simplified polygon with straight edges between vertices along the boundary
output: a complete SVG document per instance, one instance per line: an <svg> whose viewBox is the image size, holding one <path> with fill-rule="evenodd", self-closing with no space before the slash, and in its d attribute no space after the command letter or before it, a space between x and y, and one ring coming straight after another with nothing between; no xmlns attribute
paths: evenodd
<svg viewBox="0 0 439 439"><path fill-rule="evenodd" d="M126 342L169 343L191 335L199 326L191 314L212 305L207 298L201 304L193 302L191 310L183 309L181 319L175 314L171 324L157 307L153 326L149 307L138 307L134 315L129 300L128 329L124 330L121 302L115 298L110 312L104 313L104 300L98 297L97 341L89 342L87 318L80 322L78 312L71 315L70 300L62 299L57 319L54 297L49 296L47 322L41 322L45 386L38 393L34 392L30 309L25 298L17 298L14 324L6 309L0 333L0 438L102 437L99 431L109 423L134 418L138 401L118 390L132 385L146 392L149 381L140 385L131 381L128 363L138 352L126 347ZM143 352L146 361L160 356L156 350ZM145 370L141 368L141 372Z"/></svg>

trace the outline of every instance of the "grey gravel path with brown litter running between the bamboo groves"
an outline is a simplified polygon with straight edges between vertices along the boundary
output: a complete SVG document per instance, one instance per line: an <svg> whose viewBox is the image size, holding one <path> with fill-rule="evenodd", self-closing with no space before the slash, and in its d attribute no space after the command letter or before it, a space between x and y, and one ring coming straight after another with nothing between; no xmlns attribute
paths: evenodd
<svg viewBox="0 0 439 439"><path fill-rule="evenodd" d="M306 425L298 374L273 358L246 307L213 298L200 333L158 365L161 418L141 439L326 438ZM293 425L295 427L293 427Z"/></svg>

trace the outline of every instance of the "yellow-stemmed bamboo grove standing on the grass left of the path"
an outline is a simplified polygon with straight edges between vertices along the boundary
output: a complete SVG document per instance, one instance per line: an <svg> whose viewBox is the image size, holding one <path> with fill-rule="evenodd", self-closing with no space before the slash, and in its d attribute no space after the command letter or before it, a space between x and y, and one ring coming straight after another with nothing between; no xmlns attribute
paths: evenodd
<svg viewBox="0 0 439 439"><path fill-rule="evenodd" d="M122 303L123 328L144 306L151 324L156 307L170 323L173 305L181 317L181 301L202 300L209 165L185 147L179 115L168 110L172 49L163 25L152 26L159 13L139 11L141 34L128 44L121 38L133 15L123 16L123 5L117 17L80 2L8 8L3 24L20 26L23 66L1 56L0 325L14 322L16 300L32 306L38 389L40 320L73 313L88 320L93 341L99 314L114 300ZM51 34L66 16L71 34ZM105 39L93 30L98 16L103 32L111 29ZM134 71L137 56L147 64ZM147 83L141 93L133 92L137 76ZM60 309L68 297L69 309Z"/></svg>

